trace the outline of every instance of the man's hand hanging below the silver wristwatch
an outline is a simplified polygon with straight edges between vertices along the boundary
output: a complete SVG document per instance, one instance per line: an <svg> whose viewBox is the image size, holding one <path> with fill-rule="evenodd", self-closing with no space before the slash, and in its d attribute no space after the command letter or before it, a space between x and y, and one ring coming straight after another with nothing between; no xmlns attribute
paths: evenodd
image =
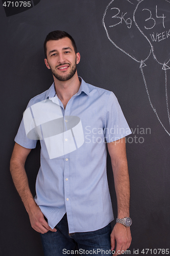
<svg viewBox="0 0 170 256"><path fill-rule="evenodd" d="M120 255L122 252L126 251L132 241L130 227L125 227L123 224L116 223L111 237L111 250L115 248L115 240L116 240L116 248L114 255Z"/></svg>

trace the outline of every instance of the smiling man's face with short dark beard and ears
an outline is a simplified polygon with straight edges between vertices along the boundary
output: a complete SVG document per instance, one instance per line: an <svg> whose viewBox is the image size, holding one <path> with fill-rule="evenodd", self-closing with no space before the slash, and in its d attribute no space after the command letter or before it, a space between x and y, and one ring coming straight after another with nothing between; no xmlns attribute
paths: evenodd
<svg viewBox="0 0 170 256"><path fill-rule="evenodd" d="M64 37L46 43L45 65L59 81L67 81L77 72L80 54L75 53L71 40Z"/></svg>

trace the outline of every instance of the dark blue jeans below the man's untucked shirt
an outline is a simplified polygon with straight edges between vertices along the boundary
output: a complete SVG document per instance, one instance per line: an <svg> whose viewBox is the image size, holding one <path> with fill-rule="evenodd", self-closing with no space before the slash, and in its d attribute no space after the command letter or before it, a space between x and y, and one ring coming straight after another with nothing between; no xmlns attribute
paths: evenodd
<svg viewBox="0 0 170 256"><path fill-rule="evenodd" d="M66 214L56 226L57 232L40 234L45 256L112 255L110 245L111 225L91 232L68 232ZM74 249L78 247L77 250Z"/></svg>

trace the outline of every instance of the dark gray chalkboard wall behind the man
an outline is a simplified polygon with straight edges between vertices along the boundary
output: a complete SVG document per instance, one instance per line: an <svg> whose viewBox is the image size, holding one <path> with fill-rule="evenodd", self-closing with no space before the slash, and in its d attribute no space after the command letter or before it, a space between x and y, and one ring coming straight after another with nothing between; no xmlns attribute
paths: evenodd
<svg viewBox="0 0 170 256"><path fill-rule="evenodd" d="M5 10L4 2L0 7L0 255L43 255L39 234L31 228L13 185L9 161L28 101L53 82L44 65L43 41L56 29L75 38L81 54L79 75L115 93L133 130L127 140L133 219L131 254L134 249L139 249L139 255L146 248L152 249L148 255L154 253L153 249L169 249L170 1L41 0L31 1L28 10ZM26 163L34 195L39 148L38 144ZM115 209L109 159L108 177ZM114 213L116 217L116 209Z"/></svg>

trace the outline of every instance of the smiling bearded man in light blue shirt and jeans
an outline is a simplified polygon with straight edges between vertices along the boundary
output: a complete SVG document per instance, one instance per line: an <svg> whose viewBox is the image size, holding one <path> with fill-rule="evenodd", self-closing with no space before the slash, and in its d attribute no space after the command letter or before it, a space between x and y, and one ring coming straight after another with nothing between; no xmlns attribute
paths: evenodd
<svg viewBox="0 0 170 256"><path fill-rule="evenodd" d="M129 126L112 92L78 77L80 53L69 34L49 33L44 51L54 83L31 99L23 114L11 157L14 184L32 227L41 234L45 256L71 254L76 245L84 255L108 255L115 241L115 254L121 254L131 243L124 138ZM41 166L33 198L24 165L38 139ZM118 208L112 232L106 144Z"/></svg>

